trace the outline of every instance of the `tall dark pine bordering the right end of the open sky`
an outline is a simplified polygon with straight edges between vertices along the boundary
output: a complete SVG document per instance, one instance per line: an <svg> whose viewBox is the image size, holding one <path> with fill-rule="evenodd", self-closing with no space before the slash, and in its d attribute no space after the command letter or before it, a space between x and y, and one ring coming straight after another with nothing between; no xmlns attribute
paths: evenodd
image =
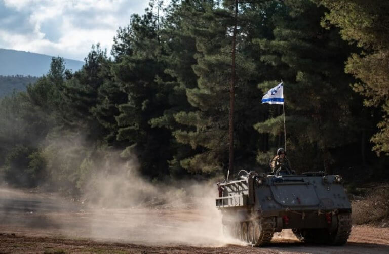
<svg viewBox="0 0 389 254"><path fill-rule="evenodd" d="M159 61L163 47L158 20L150 7L143 16L134 14L131 24L118 30L112 47L115 80L127 95L127 101L118 105L116 139L126 145L123 156L138 156L143 174L161 178L167 174L167 160L171 158L170 134L167 129L150 125L150 120L163 115L168 105L158 82L166 74Z"/></svg>

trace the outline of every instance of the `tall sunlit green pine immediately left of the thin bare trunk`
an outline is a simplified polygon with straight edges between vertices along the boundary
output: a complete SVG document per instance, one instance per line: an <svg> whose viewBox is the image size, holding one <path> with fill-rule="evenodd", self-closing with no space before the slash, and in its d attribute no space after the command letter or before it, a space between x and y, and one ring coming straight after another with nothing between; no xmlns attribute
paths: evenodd
<svg viewBox="0 0 389 254"><path fill-rule="evenodd" d="M231 40L226 34L230 13L213 1L183 3L190 13L185 29L196 39L197 86L187 88L186 95L196 111L175 114L177 122L189 130L177 130L177 141L189 144L195 156L181 160L192 172L221 171L228 161L228 80L230 79Z"/></svg>

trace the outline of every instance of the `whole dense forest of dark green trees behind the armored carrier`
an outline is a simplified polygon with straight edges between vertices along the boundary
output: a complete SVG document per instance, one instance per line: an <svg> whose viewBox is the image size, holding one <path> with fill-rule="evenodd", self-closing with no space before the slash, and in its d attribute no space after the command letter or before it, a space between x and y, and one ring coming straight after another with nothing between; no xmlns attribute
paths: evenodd
<svg viewBox="0 0 389 254"><path fill-rule="evenodd" d="M268 172L285 145L282 106L261 104L283 80L293 170L387 178L389 2L163 4L119 27L110 54L92 46L75 72L53 58L0 99L0 178L80 194L88 176L118 173L110 159L155 183L226 176L232 80L230 174Z"/></svg>

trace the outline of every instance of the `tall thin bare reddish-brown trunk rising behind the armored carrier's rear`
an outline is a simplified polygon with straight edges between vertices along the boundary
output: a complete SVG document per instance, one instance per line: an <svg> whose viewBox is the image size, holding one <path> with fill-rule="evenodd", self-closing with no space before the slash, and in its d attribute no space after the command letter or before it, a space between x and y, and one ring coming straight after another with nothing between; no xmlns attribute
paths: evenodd
<svg viewBox="0 0 389 254"><path fill-rule="evenodd" d="M232 33L232 68L231 68L231 82L230 82L230 92L229 92L229 159L228 159L228 168L230 174L234 175L234 104L235 104L235 86L237 82L237 73L236 73L236 45L237 45L237 26L238 26L238 2L235 0L235 24L234 31Z"/></svg>

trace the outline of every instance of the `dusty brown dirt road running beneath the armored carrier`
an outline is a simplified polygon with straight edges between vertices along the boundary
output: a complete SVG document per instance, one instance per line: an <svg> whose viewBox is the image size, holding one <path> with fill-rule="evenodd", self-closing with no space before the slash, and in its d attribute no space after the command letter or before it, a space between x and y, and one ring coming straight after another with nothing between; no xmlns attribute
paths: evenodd
<svg viewBox="0 0 389 254"><path fill-rule="evenodd" d="M341 247L302 244L287 230L265 248L230 244L211 201L196 209L87 208L0 189L0 253L389 253L389 229L369 226L353 227Z"/></svg>

